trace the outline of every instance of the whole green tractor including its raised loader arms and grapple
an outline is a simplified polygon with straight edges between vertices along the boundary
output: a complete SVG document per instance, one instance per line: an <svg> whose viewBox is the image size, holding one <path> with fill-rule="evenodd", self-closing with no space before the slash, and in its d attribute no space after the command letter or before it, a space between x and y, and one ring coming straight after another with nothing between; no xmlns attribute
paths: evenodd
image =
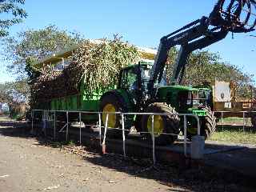
<svg viewBox="0 0 256 192"><path fill-rule="evenodd" d="M225 2L225 3L224 3ZM181 86L182 77L186 69L189 54L198 49L226 38L229 32L246 33L254 30L246 28L245 21L240 19L242 8L251 1L226 1L219 0L214 6L210 17L202 17L161 38L158 53L154 59L154 65L139 63L121 70L118 78L118 87L102 95L99 109L107 112L150 112L167 113L167 116L154 115L155 142L167 144L174 142L178 134L183 130L182 117L176 115L196 114L200 119L201 134L209 138L214 133L216 118L210 110L209 95L204 88ZM165 66L168 52L171 47L180 46L178 57L174 63L174 71L171 82L166 83ZM202 79L203 81L203 79ZM207 88L205 88L207 89ZM138 131L151 131L152 115L126 116L126 132L131 126ZM106 123L106 115L102 116ZM110 114L108 125L110 127L121 126L121 116ZM187 118L188 137L197 134L195 118ZM111 136L118 136L120 131L110 130Z"/></svg>

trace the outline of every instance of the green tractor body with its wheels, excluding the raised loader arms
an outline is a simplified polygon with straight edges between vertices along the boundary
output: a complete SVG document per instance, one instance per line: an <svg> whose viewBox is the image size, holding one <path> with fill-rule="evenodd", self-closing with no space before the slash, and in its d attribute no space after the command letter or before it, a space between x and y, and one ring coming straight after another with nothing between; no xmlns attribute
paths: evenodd
<svg viewBox="0 0 256 192"><path fill-rule="evenodd" d="M107 113L169 114L154 115L155 142L158 145L166 145L177 139L177 135L171 134L179 134L183 129L183 117L179 117L178 113L195 114L200 119L201 134L206 138L210 137L215 130L215 118L210 108L203 105L206 98L199 98L199 89L190 86L167 86L165 78L162 77L160 83L154 86L154 96L150 97L148 86L152 67L152 63L139 63L121 70L117 89L102 94L100 98L99 110L103 112L103 124L106 124ZM139 132L151 132L151 122L152 115L126 115L126 133L129 133L132 126ZM188 138L198 133L197 125L194 117L187 117ZM109 114L108 127L121 128L121 115ZM121 137L122 132L110 129L108 135Z"/></svg>

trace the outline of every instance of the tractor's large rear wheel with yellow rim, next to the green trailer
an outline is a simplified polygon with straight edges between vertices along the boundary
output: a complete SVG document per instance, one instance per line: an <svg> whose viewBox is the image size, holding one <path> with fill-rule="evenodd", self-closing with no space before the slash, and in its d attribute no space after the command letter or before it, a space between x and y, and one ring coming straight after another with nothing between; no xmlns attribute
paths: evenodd
<svg viewBox="0 0 256 192"><path fill-rule="evenodd" d="M103 96L99 105L99 110L102 111L102 134L104 134L104 128L106 125L106 113L126 112L126 104L114 94L106 94ZM122 116L121 114L109 114L107 122L108 130L106 130L107 138L122 138ZM112 129L111 129L112 128ZM126 127L126 134L129 134L129 130Z"/></svg>

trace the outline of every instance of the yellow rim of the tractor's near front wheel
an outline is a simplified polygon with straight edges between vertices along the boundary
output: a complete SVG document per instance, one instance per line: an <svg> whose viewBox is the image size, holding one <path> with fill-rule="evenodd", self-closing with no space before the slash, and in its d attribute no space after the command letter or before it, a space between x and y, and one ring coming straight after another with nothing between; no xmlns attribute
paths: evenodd
<svg viewBox="0 0 256 192"><path fill-rule="evenodd" d="M163 119L161 115L154 115L154 136L158 137L162 134L164 128ZM147 130L152 131L152 115L147 119Z"/></svg>

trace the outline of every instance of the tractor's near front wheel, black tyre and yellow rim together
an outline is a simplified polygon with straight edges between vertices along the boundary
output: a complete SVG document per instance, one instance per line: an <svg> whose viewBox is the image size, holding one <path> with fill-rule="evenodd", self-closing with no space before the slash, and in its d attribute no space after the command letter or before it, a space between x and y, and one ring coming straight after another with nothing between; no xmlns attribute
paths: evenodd
<svg viewBox="0 0 256 192"><path fill-rule="evenodd" d="M154 142L158 146L166 146L177 140L179 134L179 118L176 111L163 103L154 103L147 107L147 113L170 113L170 115L154 115ZM153 115L142 116L142 130L151 132L151 122ZM166 134L163 134L166 133ZM152 139L151 134L145 134L147 138Z"/></svg>

